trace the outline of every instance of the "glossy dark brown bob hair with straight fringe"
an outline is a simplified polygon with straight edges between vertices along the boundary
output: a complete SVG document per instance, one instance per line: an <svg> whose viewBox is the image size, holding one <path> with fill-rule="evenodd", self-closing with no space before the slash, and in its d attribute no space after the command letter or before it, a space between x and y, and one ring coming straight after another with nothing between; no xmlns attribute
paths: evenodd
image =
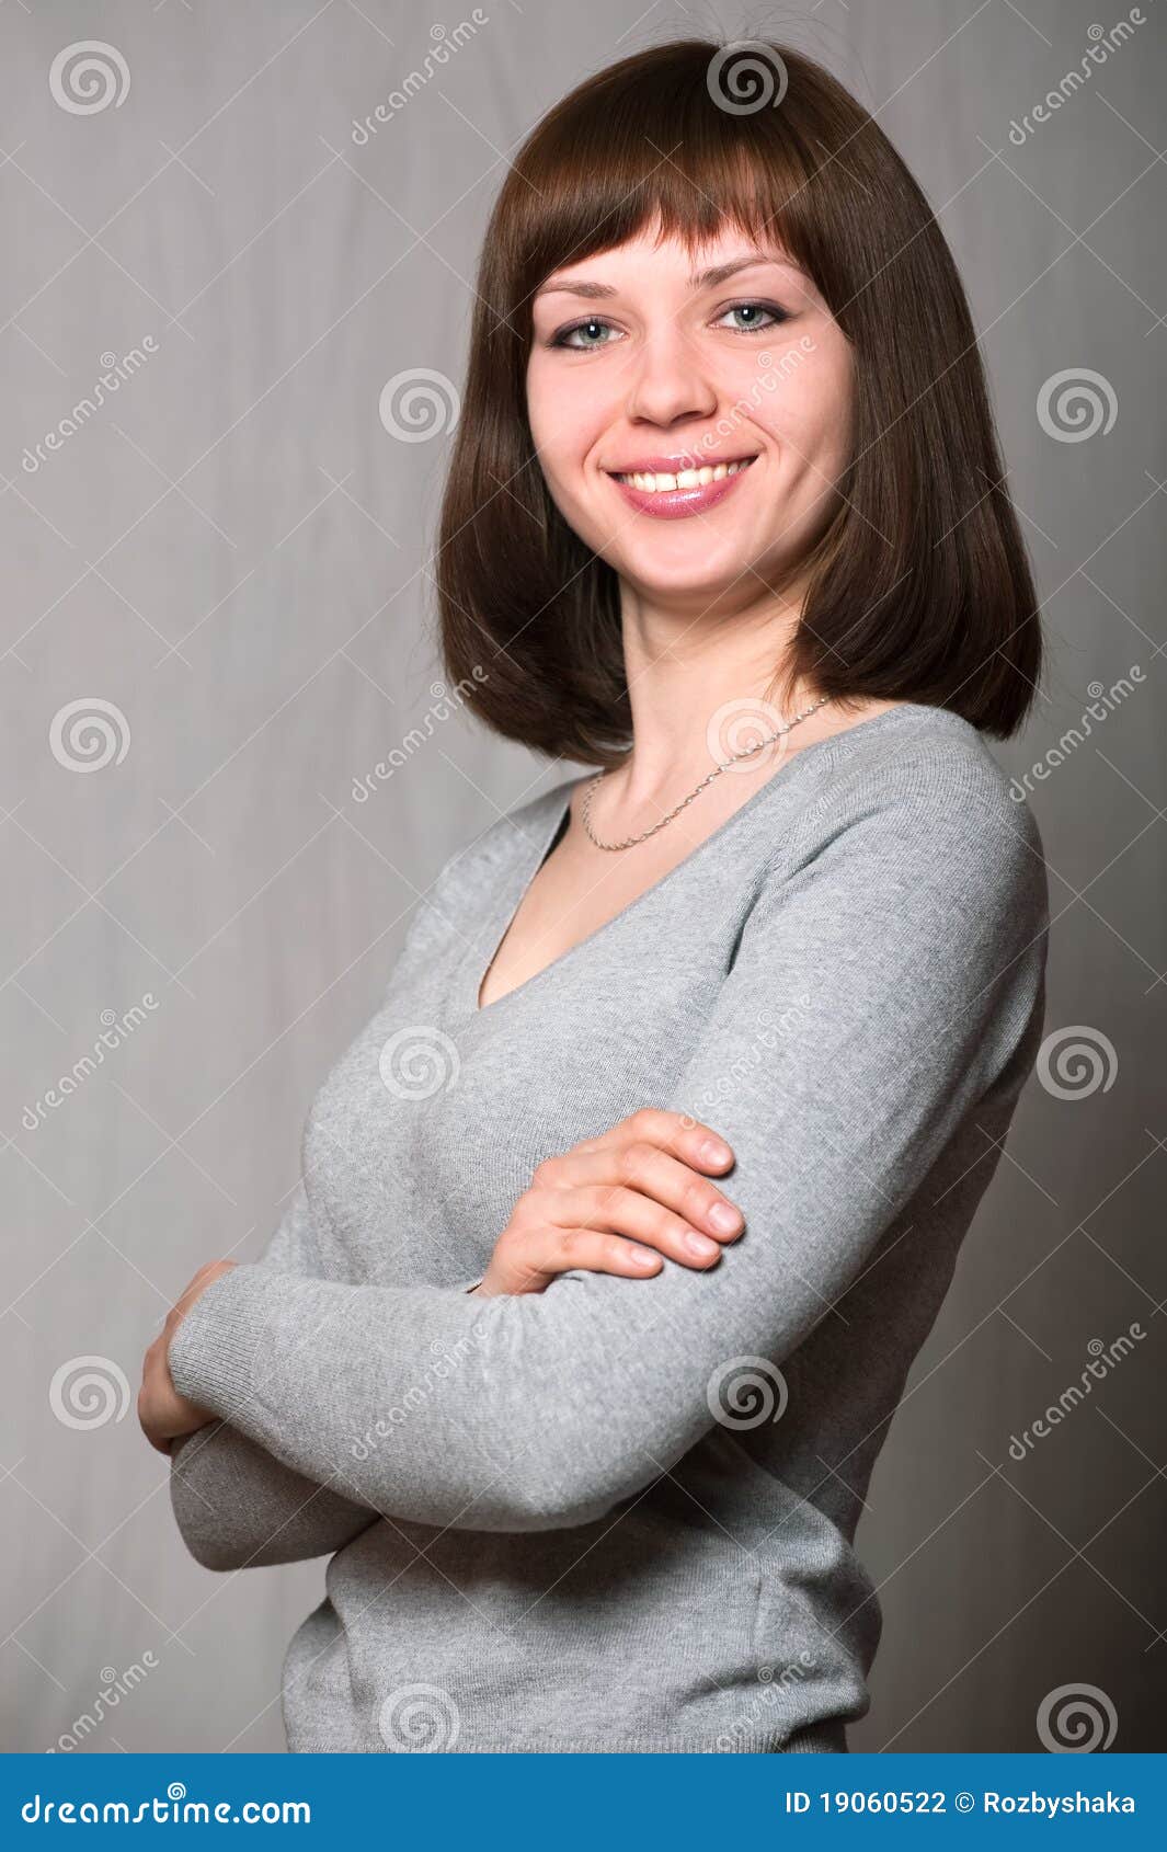
<svg viewBox="0 0 1167 1852"><path fill-rule="evenodd" d="M852 456L797 563L808 594L782 685L950 707L998 739L1037 694L1034 583L952 254L843 85L750 43L756 69L765 54L771 81L785 74L776 106L717 102L713 72L741 91L713 43L624 57L543 117L491 215L441 509L441 646L471 711L552 757L619 763L632 709L619 578L563 520L532 441L532 296L658 217L689 250L726 222L776 243L852 346Z"/></svg>

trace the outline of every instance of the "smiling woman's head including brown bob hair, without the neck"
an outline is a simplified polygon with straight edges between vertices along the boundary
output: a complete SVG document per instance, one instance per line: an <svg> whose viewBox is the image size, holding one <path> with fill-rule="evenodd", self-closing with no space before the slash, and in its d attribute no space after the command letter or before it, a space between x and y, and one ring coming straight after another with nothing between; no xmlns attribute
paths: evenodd
<svg viewBox="0 0 1167 1852"><path fill-rule="evenodd" d="M706 620L765 593L800 617L780 706L910 691L1004 739L1037 689L1037 600L952 254L828 72L771 48L743 111L717 56L602 70L509 169L441 522L450 672L485 663L495 730L615 767L628 591ZM652 491L613 482L659 494L745 456L717 506L665 487L669 515L709 515L667 541Z"/></svg>

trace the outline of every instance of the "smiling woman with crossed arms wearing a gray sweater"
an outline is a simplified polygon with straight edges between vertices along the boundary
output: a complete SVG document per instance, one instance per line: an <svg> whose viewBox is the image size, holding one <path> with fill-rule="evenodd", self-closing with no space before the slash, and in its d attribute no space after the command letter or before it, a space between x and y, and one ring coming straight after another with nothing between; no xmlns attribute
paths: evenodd
<svg viewBox="0 0 1167 1852"><path fill-rule="evenodd" d="M332 1554L293 1750L832 1752L869 1706L856 1520L1041 1037L982 739L1041 641L941 232L750 56L756 107L713 44L628 57L508 174L445 661L600 770L446 863L267 1254L146 1354L198 1561Z"/></svg>

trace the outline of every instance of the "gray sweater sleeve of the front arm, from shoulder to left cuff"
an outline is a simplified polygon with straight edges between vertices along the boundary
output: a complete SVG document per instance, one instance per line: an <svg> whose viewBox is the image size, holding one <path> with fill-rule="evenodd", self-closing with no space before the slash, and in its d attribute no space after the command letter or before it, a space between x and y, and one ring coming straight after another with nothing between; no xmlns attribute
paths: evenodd
<svg viewBox="0 0 1167 1852"><path fill-rule="evenodd" d="M871 782L795 872L771 870L676 1085L639 1102L734 1148L719 1182L745 1233L713 1269L471 1302L237 1267L176 1333L178 1387L422 1524L569 1528L646 1487L724 1419L732 1367L782 1365L830 1315L985 1095L1021 1089L1041 839L1028 807L965 783Z"/></svg>

